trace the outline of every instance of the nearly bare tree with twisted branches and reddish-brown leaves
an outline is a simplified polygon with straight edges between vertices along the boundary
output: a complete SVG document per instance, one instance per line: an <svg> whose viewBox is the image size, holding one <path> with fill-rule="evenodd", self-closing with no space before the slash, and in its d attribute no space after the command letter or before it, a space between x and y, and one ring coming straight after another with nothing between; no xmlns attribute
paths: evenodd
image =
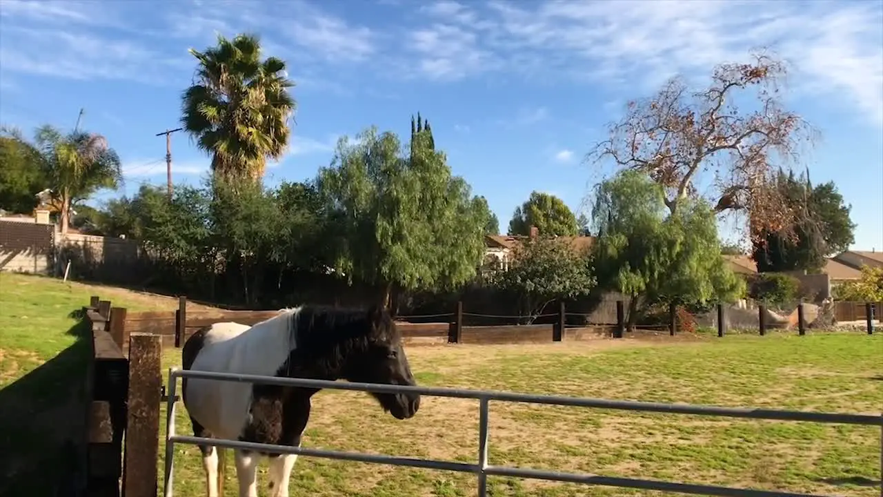
<svg viewBox="0 0 883 497"><path fill-rule="evenodd" d="M717 65L707 88L691 91L675 77L656 95L628 103L587 160L612 158L646 172L665 187L672 213L698 195L699 174L713 173L709 200L716 211L749 214L752 238L790 233L796 213L774 186L775 173L795 162L816 132L782 103L784 63L764 53L751 56L750 64Z"/></svg>

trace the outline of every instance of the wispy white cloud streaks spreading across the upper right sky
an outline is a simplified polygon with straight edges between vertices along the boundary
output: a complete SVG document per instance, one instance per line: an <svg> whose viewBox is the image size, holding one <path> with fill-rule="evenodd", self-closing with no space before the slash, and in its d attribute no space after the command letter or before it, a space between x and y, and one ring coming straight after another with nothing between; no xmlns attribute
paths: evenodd
<svg viewBox="0 0 883 497"><path fill-rule="evenodd" d="M504 3L449 0L421 8L426 21L458 28L469 50L494 60L458 77L499 69L650 91L681 73L706 78L714 64L772 46L795 67L800 88L845 96L883 125L883 4L879 2ZM444 24L438 25L440 21ZM440 32L438 28L436 32Z"/></svg>

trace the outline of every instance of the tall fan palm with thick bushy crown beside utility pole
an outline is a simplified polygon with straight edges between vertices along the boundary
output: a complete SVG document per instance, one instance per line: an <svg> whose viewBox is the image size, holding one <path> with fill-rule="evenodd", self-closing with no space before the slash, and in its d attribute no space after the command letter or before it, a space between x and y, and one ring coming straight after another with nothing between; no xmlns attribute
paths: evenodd
<svg viewBox="0 0 883 497"><path fill-rule="evenodd" d="M296 103L285 62L261 61L260 41L251 34L218 35L215 47L190 53L199 65L184 92L183 127L212 156L215 178L260 180L267 158L283 157L291 134Z"/></svg>

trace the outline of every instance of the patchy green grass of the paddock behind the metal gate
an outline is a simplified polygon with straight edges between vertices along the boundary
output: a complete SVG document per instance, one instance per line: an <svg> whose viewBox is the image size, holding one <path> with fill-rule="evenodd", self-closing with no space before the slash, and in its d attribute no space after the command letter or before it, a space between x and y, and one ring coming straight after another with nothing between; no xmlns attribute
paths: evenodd
<svg viewBox="0 0 883 497"><path fill-rule="evenodd" d="M883 409L883 336L863 333L738 335L668 344L603 340L411 347L409 358L419 383L432 386L876 415ZM166 366L179 363L179 351L166 353ZM426 397L417 417L396 421L366 394L326 391L314 397L304 444L474 462L477 425L477 401ZM177 426L190 434L180 404ZM879 427L871 426L492 402L490 461L870 497L879 495L879 483L872 486L880 479L879 437ZM198 448L176 448L175 476L177 496L203 494ZM259 478L266 492L266 464ZM494 496L670 495L511 478L490 478L490 486ZM235 469L228 462L225 495L235 490ZM291 495L302 497L474 494L472 475L313 458L298 459L291 480Z"/></svg>

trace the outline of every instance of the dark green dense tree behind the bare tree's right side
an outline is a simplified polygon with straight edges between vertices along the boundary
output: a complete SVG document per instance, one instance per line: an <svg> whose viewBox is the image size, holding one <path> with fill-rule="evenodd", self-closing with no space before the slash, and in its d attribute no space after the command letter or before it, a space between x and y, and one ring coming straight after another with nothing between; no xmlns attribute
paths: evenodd
<svg viewBox="0 0 883 497"><path fill-rule="evenodd" d="M808 175L795 178L793 172L780 171L775 187L796 206L794 235L762 232L752 244L758 271L819 272L825 267L826 256L846 250L855 240L851 206L843 202L834 182L813 187Z"/></svg>

